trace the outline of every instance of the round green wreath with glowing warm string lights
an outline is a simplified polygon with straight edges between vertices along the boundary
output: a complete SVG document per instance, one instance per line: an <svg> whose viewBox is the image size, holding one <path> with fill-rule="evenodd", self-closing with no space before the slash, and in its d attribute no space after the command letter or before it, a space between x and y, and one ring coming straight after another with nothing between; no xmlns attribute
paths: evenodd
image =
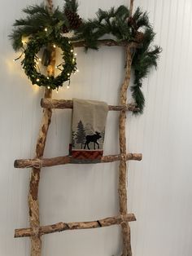
<svg viewBox="0 0 192 256"><path fill-rule="evenodd" d="M46 35L47 34L47 35ZM46 48L59 46L63 51L63 63L60 64L61 73L57 76L45 76L37 70L37 53L43 46ZM72 73L76 71L76 58L73 54L72 44L68 38L57 36L55 33L41 33L36 38L30 39L27 48L24 50L24 60L22 60L24 72L33 84L46 86L51 89L63 86L63 82L69 81Z"/></svg>

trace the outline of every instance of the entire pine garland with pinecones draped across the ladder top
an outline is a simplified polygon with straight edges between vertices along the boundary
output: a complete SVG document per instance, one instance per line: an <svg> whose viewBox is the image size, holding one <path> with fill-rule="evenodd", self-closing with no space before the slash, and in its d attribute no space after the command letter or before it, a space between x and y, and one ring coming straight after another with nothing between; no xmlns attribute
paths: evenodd
<svg viewBox="0 0 192 256"><path fill-rule="evenodd" d="M30 40L34 42L37 37L41 37L45 28L48 31L47 37L52 37L54 34L55 38L61 38L63 33L73 30L74 36L69 38L70 41L85 41L85 51L89 48L98 50L98 40L106 35L111 35L116 42L138 42L141 47L134 49L133 53L134 85L131 90L133 99L137 107L140 108L139 113L142 113L145 105L141 90L142 80L152 67L157 67L157 60L161 51L159 46L151 48L155 33L147 13L142 12L138 7L134 14L130 16L129 9L120 6L112 7L109 11L99 9L94 19L81 20L77 9L78 3L76 0L64 0L63 10L60 11L57 7L52 13L44 4L25 8L23 11L27 15L26 18L15 20L15 29L10 35L14 50L18 51L23 47L23 36L29 37L29 46L31 46ZM24 67L26 63L27 60L24 60ZM33 65L32 69L35 72L34 68ZM27 70L25 70L25 73L28 75ZM41 86L41 84L39 85ZM51 86L51 88L55 88L55 86Z"/></svg>

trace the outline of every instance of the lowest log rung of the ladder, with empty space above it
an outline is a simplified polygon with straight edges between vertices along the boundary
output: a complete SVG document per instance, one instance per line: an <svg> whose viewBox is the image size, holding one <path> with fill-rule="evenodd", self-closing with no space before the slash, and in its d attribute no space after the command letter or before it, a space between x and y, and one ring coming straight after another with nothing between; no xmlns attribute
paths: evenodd
<svg viewBox="0 0 192 256"><path fill-rule="evenodd" d="M122 222L132 222L135 221L134 214L118 215L116 217L103 218L96 221L89 222L79 222L79 223L56 223L48 226L37 227L35 230L33 228L20 228L15 229L15 237L24 236L41 236L54 232L63 232L67 230L76 229L88 229L96 227L108 227L111 225L119 225Z"/></svg>

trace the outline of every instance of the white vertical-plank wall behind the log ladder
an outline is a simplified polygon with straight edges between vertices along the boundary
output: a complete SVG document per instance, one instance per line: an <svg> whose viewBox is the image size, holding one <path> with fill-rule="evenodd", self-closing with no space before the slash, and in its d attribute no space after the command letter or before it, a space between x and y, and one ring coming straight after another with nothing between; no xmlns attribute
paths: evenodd
<svg viewBox="0 0 192 256"><path fill-rule="evenodd" d="M36 1L40 2L40 1ZM80 13L93 17L98 7L129 1L81 0ZM0 15L0 255L29 255L28 239L13 238L16 227L28 227L28 170L16 170L16 158L33 157L43 90L31 86L13 64L15 53L7 35L21 9L35 1L2 2ZM55 5L62 5L55 0ZM129 211L134 256L190 256L192 254L192 2L191 0L135 0L135 7L149 11L155 43L164 51L157 72L144 82L145 112L128 115L128 148L142 152L142 162L129 163ZM123 79L124 52L118 48L100 51L78 49L81 73L72 79L70 90L59 90L54 98L105 100L118 103ZM46 157L68 152L71 111L55 111L46 145ZM116 153L116 113L109 113L105 152ZM41 223L84 221L118 213L118 164L57 166L41 172ZM119 227L63 232L43 237L43 256L120 255Z"/></svg>

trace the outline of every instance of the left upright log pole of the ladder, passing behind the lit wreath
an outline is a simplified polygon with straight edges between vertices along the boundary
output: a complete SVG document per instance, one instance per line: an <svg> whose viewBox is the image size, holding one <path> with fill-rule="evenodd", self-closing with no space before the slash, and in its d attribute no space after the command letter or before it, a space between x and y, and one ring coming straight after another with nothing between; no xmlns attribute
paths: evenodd
<svg viewBox="0 0 192 256"><path fill-rule="evenodd" d="M52 1L48 1L48 7L52 10ZM52 49L50 64L47 67L47 75L54 75L55 73L55 49ZM45 89L44 98L51 98L52 90ZM44 149L46 146L46 135L50 126L50 120L52 116L52 110L50 108L43 109L43 115L41 119L41 126L39 134L37 136L36 157L43 157ZM40 227L39 219L39 204L38 204L38 187L40 181L41 168L33 168L31 172L31 178L29 183L28 192L28 214L29 224L33 229L34 236L31 236L31 256L41 256L41 235L37 230Z"/></svg>

